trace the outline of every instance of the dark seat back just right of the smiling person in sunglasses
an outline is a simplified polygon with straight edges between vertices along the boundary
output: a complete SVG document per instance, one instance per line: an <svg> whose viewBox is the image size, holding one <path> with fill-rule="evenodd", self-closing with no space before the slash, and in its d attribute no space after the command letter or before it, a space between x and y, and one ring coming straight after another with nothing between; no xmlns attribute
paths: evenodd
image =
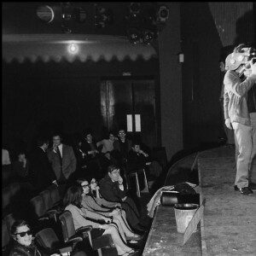
<svg viewBox="0 0 256 256"><path fill-rule="evenodd" d="M43 248L44 251L51 253L56 248L59 248L61 243L55 234L55 231L51 228L40 230L35 235L36 243L39 247Z"/></svg>

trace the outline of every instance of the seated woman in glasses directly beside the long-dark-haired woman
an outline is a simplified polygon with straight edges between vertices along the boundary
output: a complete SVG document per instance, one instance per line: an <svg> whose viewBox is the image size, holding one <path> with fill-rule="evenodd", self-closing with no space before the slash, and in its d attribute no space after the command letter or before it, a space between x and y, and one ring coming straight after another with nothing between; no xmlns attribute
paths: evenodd
<svg viewBox="0 0 256 256"><path fill-rule="evenodd" d="M142 237L133 233L129 224L126 221L125 211L121 210L119 207L106 208L101 207L97 204L93 195L90 192L90 183L86 180L86 178L79 178L77 183L83 189L83 200L82 206L90 212L97 212L105 217L113 218L113 223L117 224L119 227L119 233L122 236L123 240L139 240Z"/></svg>

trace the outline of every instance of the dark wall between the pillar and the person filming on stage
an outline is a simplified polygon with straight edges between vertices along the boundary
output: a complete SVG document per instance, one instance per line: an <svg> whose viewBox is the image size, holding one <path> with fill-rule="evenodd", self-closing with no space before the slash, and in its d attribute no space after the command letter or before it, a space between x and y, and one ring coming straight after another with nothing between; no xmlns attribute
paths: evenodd
<svg viewBox="0 0 256 256"><path fill-rule="evenodd" d="M181 3L184 148L217 142L223 135L218 100L222 85L218 65L220 52L227 46L224 42L238 44L238 40L253 40L253 24L247 26L248 20L252 21L253 11L247 12L249 3L213 3L210 9L211 4ZM229 12L227 15L232 16L232 20L226 20L220 7ZM219 26L225 28L221 33Z"/></svg>

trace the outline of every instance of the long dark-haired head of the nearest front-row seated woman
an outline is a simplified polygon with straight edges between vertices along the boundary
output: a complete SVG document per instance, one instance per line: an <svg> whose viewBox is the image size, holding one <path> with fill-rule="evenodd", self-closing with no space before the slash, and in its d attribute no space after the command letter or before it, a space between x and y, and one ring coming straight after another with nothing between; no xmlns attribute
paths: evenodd
<svg viewBox="0 0 256 256"><path fill-rule="evenodd" d="M63 198L63 205L67 207L72 204L76 207L81 207L83 189L79 184L75 184L67 189Z"/></svg>

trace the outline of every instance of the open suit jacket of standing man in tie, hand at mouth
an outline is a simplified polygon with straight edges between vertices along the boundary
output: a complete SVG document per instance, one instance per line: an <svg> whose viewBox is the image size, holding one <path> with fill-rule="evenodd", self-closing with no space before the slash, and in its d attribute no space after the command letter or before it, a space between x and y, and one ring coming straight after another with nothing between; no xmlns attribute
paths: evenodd
<svg viewBox="0 0 256 256"><path fill-rule="evenodd" d="M72 147L65 144L62 145L62 173L68 179L76 171L77 159ZM48 159L58 181L61 177L61 161L59 155L53 151L53 148L50 148L48 151Z"/></svg>

